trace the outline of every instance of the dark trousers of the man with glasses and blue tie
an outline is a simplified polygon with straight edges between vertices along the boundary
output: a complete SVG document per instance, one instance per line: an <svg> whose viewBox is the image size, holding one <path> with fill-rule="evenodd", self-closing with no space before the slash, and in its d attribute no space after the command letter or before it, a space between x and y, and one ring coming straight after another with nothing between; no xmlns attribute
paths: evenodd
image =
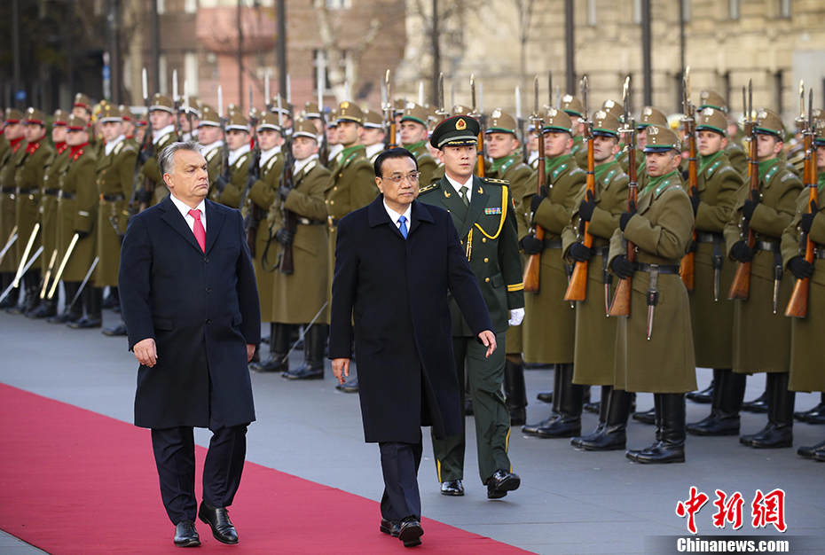
<svg viewBox="0 0 825 555"><path fill-rule="evenodd" d="M423 450L421 439L418 443L381 442L378 446L381 449L381 472L384 474L381 518L402 520L413 515L420 519L418 469Z"/></svg>

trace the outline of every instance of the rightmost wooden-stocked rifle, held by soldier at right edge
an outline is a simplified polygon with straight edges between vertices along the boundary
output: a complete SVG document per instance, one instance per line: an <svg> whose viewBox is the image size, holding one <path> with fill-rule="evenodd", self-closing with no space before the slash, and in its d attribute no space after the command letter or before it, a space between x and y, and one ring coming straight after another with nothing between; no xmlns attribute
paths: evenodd
<svg viewBox="0 0 825 555"><path fill-rule="evenodd" d="M802 122L802 137L805 141L805 166L803 177L805 187L808 188L808 207L813 211L813 207L819 203L819 172L816 169L816 147L813 145L813 88L808 94L808 117L805 119L805 89L803 83L799 83L799 120ZM805 235L805 261L813 263L814 244L811 238ZM798 279L793 286L793 293L790 295L788 308L785 309L785 316L804 318L808 313L808 289L811 286L811 278Z"/></svg>

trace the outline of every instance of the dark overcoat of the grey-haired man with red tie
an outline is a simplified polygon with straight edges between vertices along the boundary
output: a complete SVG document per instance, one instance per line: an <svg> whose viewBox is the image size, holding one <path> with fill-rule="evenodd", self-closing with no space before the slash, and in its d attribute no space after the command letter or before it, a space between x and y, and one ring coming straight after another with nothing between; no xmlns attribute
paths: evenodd
<svg viewBox="0 0 825 555"><path fill-rule="evenodd" d="M261 340L255 272L238 210L206 202L206 252L167 198L130 218L118 288L129 348L153 338L138 369L135 424L209 425L209 383L225 426L255 420L247 343Z"/></svg>

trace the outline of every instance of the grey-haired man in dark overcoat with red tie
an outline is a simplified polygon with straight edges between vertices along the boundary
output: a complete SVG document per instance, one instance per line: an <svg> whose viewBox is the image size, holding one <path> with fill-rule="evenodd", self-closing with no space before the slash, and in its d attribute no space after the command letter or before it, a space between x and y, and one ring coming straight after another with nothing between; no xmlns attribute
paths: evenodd
<svg viewBox="0 0 825 555"><path fill-rule="evenodd" d="M118 276L129 348L140 363L135 424L152 429L176 545L200 544L196 510L218 541L238 543L226 507L255 420L247 367L261 339L255 271L240 212L206 200L200 145L174 143L158 161L171 194L130 218ZM200 510L193 426L213 434Z"/></svg>

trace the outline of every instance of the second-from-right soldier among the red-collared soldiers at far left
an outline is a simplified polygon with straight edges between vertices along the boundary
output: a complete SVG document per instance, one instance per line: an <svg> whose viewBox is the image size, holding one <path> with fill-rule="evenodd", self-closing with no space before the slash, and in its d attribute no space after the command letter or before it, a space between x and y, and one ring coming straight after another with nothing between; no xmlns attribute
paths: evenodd
<svg viewBox="0 0 825 555"><path fill-rule="evenodd" d="M58 271L60 263L58 238L58 195L60 192L58 179L68 161L68 145L66 144L66 123L68 113L55 110L51 122L51 142L54 144L54 159L46 168L43 176L43 197L40 201L41 237L43 238L43 255L40 257L40 270L43 278L49 276L49 282L44 287L51 287L51 280ZM50 274L51 270L51 274ZM32 318L48 318L57 314L58 300L48 298L48 289L41 289L42 299L35 311L27 314Z"/></svg>

